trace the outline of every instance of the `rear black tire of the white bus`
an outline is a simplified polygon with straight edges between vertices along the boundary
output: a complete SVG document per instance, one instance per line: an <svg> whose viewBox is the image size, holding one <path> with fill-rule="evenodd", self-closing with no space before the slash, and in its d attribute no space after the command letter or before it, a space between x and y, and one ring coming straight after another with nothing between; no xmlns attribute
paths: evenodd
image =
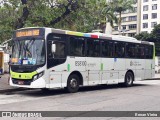
<svg viewBox="0 0 160 120"><path fill-rule="evenodd" d="M124 86L125 87L131 87L133 85L133 81L134 81L134 76L131 72L127 72L125 75L125 82L124 82Z"/></svg>

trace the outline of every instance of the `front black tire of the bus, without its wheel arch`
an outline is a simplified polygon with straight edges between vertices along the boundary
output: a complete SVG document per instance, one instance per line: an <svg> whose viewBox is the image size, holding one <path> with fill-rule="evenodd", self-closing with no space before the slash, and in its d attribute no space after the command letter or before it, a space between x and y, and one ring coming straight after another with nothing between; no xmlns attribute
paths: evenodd
<svg viewBox="0 0 160 120"><path fill-rule="evenodd" d="M70 75L67 80L67 91L69 93L75 93L79 89L79 77L75 74Z"/></svg>

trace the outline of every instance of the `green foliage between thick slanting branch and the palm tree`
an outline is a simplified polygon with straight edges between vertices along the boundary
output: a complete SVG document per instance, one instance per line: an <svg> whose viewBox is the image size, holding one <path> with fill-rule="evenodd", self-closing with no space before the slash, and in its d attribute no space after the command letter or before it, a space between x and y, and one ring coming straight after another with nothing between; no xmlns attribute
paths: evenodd
<svg viewBox="0 0 160 120"><path fill-rule="evenodd" d="M76 12L72 12L65 19L56 24L55 27L70 29L81 32L91 32L99 29L100 24L105 21L102 16L102 9L105 6L105 0L79 0L80 7Z"/></svg>

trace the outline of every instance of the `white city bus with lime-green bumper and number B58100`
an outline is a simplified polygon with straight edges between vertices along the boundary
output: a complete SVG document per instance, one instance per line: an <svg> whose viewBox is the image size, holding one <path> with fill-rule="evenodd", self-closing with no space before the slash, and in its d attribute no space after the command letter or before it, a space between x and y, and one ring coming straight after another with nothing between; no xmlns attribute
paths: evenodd
<svg viewBox="0 0 160 120"><path fill-rule="evenodd" d="M10 85L66 88L118 84L154 77L154 43L54 28L23 28L13 35Z"/></svg>

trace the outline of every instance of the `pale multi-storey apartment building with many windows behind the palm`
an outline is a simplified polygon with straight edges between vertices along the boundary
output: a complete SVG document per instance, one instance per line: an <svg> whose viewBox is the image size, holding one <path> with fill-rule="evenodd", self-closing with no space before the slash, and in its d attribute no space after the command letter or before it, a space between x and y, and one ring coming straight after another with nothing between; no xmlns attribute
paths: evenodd
<svg viewBox="0 0 160 120"><path fill-rule="evenodd" d="M160 24L160 0L135 0L133 7L134 12L122 14L122 30L115 25L112 34L121 32L125 36L134 36L140 32L150 33L155 25Z"/></svg>

